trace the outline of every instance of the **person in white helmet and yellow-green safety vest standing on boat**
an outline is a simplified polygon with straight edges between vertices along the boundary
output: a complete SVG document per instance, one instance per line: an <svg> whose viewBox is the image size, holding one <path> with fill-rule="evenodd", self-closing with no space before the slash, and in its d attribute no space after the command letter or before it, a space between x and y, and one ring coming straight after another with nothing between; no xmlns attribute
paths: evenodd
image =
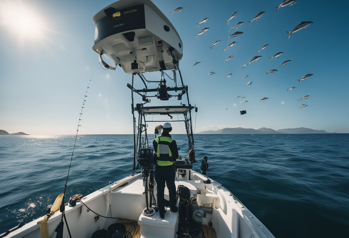
<svg viewBox="0 0 349 238"><path fill-rule="evenodd" d="M165 182L169 190L170 210L171 212L178 212L178 207L176 207L176 185L174 184L174 177L176 176L174 163L179 155L177 143L169 133L171 131L171 124L166 122L162 127L161 135L153 141L154 158L156 159L155 181L157 186L157 205L159 215L162 219L165 218Z"/></svg>

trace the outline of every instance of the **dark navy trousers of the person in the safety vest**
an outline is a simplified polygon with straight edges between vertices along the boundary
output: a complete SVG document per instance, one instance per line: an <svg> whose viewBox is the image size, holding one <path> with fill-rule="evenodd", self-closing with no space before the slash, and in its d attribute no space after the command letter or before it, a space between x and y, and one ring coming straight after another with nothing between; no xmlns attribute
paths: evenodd
<svg viewBox="0 0 349 238"><path fill-rule="evenodd" d="M157 186L157 205L159 207L159 213L165 213L165 182L169 190L170 206L174 207L177 203L176 185L174 184L174 178L176 176L176 168L174 165L155 167L155 181Z"/></svg>

